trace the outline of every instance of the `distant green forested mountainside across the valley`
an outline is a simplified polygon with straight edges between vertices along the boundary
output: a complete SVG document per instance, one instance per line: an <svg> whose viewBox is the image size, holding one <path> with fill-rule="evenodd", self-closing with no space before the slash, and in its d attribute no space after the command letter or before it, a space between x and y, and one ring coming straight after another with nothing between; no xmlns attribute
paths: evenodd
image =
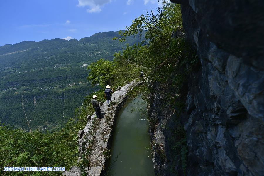
<svg viewBox="0 0 264 176"><path fill-rule="evenodd" d="M0 47L0 121L28 130L21 98L32 129L60 128L81 105L84 96L96 91L87 81L87 65L113 59L126 43L140 42L139 36L126 43L112 40L118 32L91 37L23 41Z"/></svg>

